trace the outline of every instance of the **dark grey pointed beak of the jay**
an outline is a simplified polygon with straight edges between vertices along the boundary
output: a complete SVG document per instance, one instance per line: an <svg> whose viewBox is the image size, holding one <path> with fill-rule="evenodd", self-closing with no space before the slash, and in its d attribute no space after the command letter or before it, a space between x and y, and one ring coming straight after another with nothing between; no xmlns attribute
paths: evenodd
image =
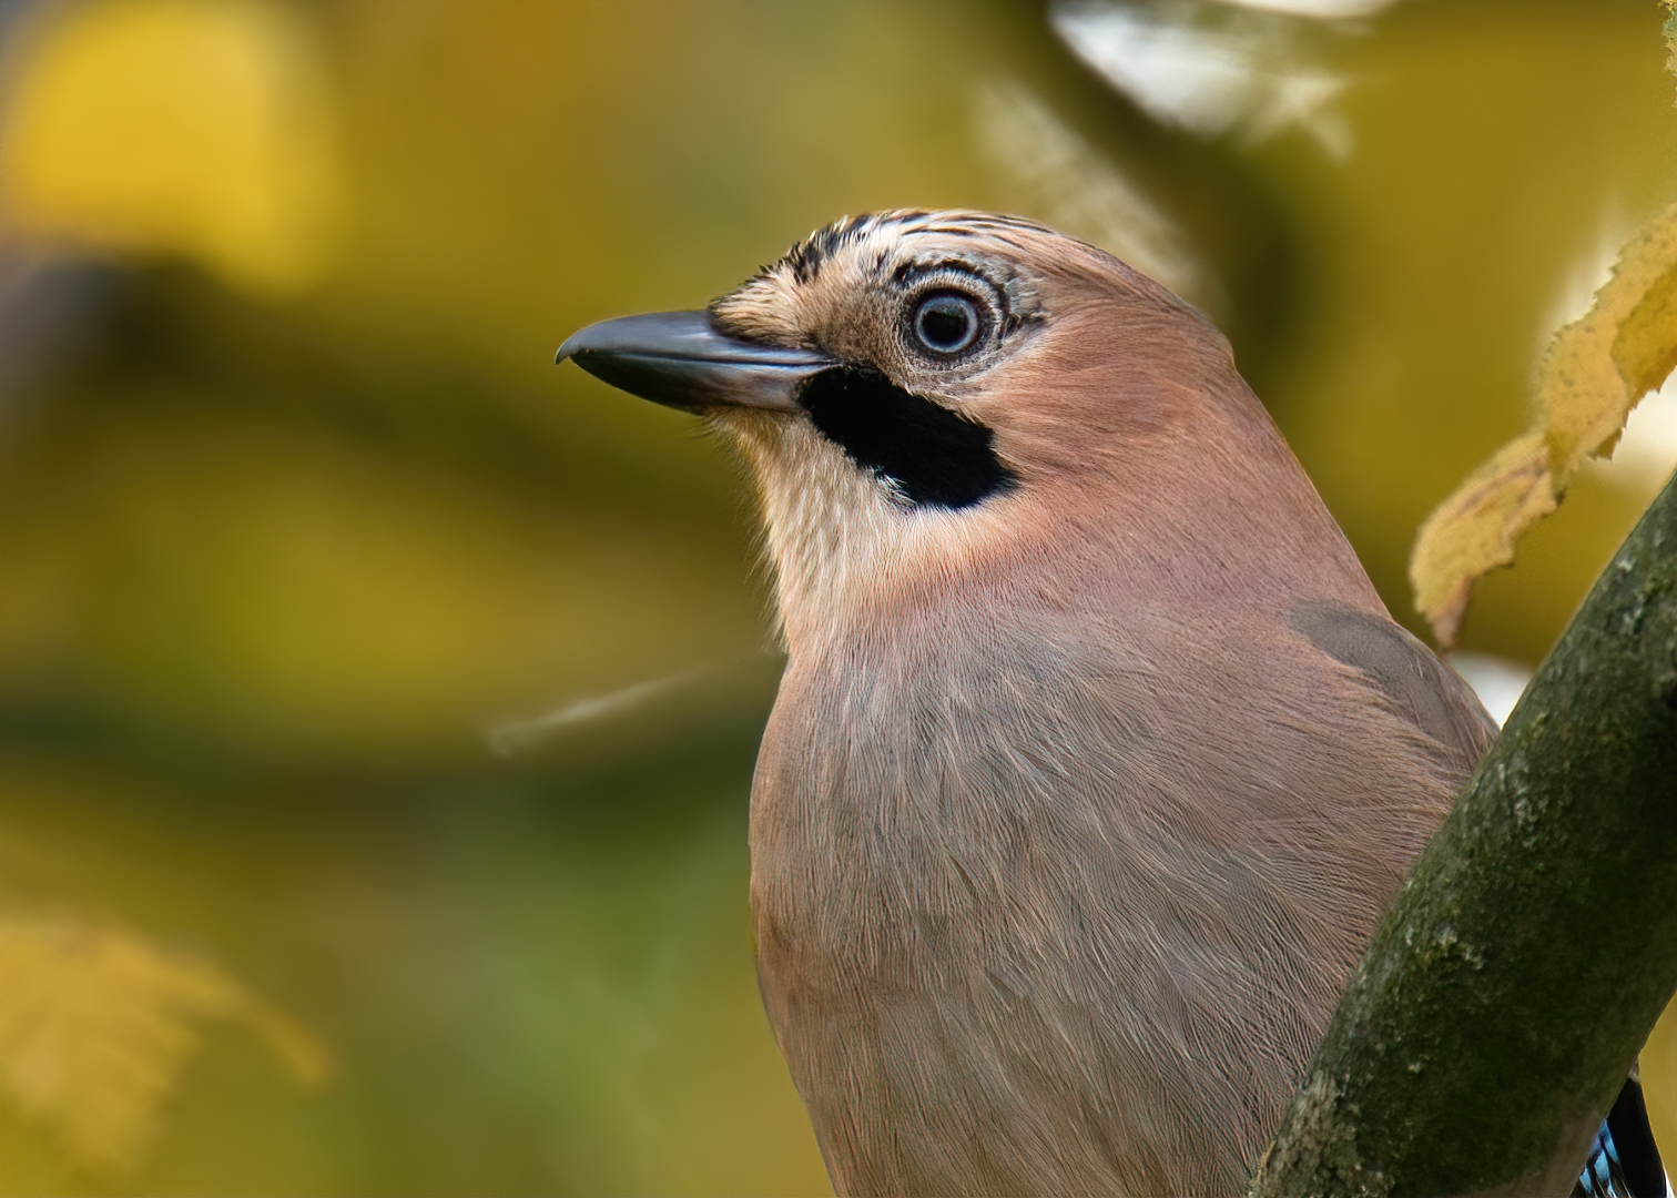
<svg viewBox="0 0 1677 1198"><path fill-rule="evenodd" d="M709 312L590 324L572 334L553 361L567 357L614 388L683 411L733 406L797 413L805 379L838 364L808 349L733 337Z"/></svg>

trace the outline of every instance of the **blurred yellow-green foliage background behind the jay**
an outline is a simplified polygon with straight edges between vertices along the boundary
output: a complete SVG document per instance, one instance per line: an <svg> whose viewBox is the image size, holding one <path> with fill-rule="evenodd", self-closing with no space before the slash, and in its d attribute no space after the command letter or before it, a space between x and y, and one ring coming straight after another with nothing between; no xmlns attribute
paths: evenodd
<svg viewBox="0 0 1677 1198"><path fill-rule="evenodd" d="M1677 200L1660 20L0 7L0 945L92 961L27 1010L47 966L0 978L0 1191L825 1193L751 975L748 488L553 347L844 213L1035 216L1212 314L1419 631L1415 525ZM1674 411L1481 587L1466 649L1543 654ZM183 961L332 1076L121 980ZM54 1020L109 1060L54 1057ZM94 1099L54 1089L75 1069ZM101 1156L75 1128L124 1069Z"/></svg>

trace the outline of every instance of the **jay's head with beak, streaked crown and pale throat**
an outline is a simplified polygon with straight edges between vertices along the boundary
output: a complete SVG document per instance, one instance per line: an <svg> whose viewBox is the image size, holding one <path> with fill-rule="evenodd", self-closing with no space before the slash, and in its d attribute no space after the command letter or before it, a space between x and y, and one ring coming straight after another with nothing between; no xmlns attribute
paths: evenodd
<svg viewBox="0 0 1677 1198"><path fill-rule="evenodd" d="M1040 587L1045 555L1135 523L1181 530L1172 497L1224 460L1249 473L1254 436L1298 471L1199 312L988 213L840 220L706 310L595 324L565 357L738 440L793 648L1021 567Z"/></svg>

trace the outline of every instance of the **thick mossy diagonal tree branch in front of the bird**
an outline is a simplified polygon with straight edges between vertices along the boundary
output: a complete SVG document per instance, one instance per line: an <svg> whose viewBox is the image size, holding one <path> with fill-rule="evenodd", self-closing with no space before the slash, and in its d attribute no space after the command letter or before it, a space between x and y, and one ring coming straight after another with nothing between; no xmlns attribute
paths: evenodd
<svg viewBox="0 0 1677 1198"><path fill-rule="evenodd" d="M1566 1193L1677 990L1677 480L1387 913L1249 1193Z"/></svg>

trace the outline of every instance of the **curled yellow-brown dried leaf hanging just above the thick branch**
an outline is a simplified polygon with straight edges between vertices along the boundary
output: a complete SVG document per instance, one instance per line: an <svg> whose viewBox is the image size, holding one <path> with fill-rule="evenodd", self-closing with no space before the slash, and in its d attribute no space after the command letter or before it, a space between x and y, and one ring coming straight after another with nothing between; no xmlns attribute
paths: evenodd
<svg viewBox="0 0 1677 1198"><path fill-rule="evenodd" d="M1514 560L1519 537L1560 503L1590 456L1612 453L1625 418L1677 366L1677 205L1618 253L1590 310L1555 334L1538 371L1536 426L1479 466L1427 517L1409 579L1415 607L1451 648L1472 586Z"/></svg>

